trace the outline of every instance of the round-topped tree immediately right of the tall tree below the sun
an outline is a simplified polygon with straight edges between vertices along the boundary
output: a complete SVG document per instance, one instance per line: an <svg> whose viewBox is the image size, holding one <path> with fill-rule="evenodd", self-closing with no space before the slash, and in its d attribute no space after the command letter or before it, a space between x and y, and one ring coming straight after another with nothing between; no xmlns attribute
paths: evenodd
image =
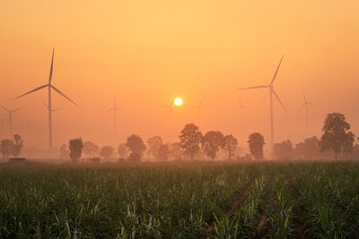
<svg viewBox="0 0 359 239"><path fill-rule="evenodd" d="M223 147L223 133L219 131L206 132L201 143L206 156L215 160L217 151Z"/></svg>

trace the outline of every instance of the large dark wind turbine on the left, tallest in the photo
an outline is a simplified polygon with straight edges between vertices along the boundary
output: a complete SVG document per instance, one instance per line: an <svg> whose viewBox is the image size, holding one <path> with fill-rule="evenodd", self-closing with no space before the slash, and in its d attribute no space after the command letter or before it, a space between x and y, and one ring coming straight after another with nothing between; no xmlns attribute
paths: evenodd
<svg viewBox="0 0 359 239"><path fill-rule="evenodd" d="M52 112L53 112L52 105L51 105L51 89L55 90L58 94L60 94L64 98L67 98L72 103L74 103L74 101L71 98L66 97L66 95L63 92L61 92L60 90L58 90L55 86L53 86L51 84L53 66L54 66L54 53L55 53L55 48L52 49L52 58L51 58L50 73L48 76L48 83L46 85L39 86L38 88L35 88L34 90L31 90L31 91L17 97L17 98L22 98L23 96L31 94L32 92L35 92L37 90L41 90L43 88L48 88L48 150L50 152L52 151ZM76 103L74 103L74 105L76 105L78 107L78 105Z"/></svg>

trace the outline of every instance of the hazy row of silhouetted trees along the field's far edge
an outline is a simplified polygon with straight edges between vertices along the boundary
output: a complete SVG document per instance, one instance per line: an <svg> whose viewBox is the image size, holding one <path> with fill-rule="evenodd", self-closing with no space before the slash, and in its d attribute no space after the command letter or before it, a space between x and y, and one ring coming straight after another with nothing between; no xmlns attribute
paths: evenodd
<svg viewBox="0 0 359 239"><path fill-rule="evenodd" d="M146 154L147 158L166 161L169 158L174 160L194 160L196 156L203 153L206 157L215 160L218 151L223 149L226 158L231 160L235 157L237 139L232 135L223 135L220 131L209 131L202 133L196 124L186 124L180 132L180 141L165 143L161 136L153 136L144 143L143 139L132 134L127 141L118 145L117 153L119 160L141 161ZM359 137L357 138L359 141ZM264 158L263 148L266 144L263 135L259 132L250 133L248 139L250 155L246 159L261 160ZM320 139L312 136L293 146L290 140L282 141L274 145L274 158L276 159L335 159L338 156L359 158L359 145L355 143L355 135L350 132L350 124L346 117L340 113L328 114L325 118L322 135ZM23 140L19 134L13 135L13 141L4 139L0 143L0 153L3 158L10 156L18 157L23 147ZM83 141L82 138L70 140L68 145L60 147L60 158L72 158L77 161L79 158L114 158L115 149L111 146L99 147L92 141ZM243 158L243 157L242 157ZM203 159L203 157L202 157Z"/></svg>

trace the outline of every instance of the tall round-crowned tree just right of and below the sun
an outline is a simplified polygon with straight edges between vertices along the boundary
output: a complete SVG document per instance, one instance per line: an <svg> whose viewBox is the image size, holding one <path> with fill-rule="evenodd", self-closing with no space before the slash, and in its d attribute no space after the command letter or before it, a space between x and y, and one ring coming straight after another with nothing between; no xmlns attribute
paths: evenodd
<svg viewBox="0 0 359 239"><path fill-rule="evenodd" d="M193 161L193 157L199 150L201 138L202 133L198 131L195 124L186 124L185 128L180 132L180 147L184 149L191 161Z"/></svg>

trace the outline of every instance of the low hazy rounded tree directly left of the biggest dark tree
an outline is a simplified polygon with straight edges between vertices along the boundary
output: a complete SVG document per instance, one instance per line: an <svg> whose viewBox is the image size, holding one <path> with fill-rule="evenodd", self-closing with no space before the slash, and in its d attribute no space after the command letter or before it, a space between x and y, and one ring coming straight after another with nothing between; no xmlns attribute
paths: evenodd
<svg viewBox="0 0 359 239"><path fill-rule="evenodd" d="M296 154L303 159L320 158L320 140L317 136L305 139L295 146Z"/></svg>

